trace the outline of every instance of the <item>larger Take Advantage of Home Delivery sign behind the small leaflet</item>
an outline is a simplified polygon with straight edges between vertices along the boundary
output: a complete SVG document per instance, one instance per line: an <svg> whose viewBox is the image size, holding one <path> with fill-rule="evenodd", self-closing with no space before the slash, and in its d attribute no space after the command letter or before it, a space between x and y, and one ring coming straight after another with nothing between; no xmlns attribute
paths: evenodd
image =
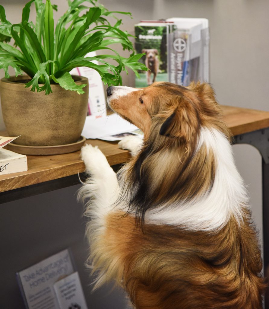
<svg viewBox="0 0 269 309"><path fill-rule="evenodd" d="M60 309L53 285L74 273L70 249L65 249L18 273L17 280L28 309Z"/></svg>

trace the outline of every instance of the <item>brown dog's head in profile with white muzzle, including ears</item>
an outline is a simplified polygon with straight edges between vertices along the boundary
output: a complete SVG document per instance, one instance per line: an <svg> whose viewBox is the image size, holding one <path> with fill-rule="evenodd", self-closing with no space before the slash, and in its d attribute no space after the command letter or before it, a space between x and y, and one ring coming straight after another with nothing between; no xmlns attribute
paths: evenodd
<svg viewBox="0 0 269 309"><path fill-rule="evenodd" d="M145 138L160 136L190 142L201 126L225 131L214 91L206 83L182 87L158 82L145 88L108 87L110 107L140 128ZM225 131L226 133L226 131Z"/></svg>

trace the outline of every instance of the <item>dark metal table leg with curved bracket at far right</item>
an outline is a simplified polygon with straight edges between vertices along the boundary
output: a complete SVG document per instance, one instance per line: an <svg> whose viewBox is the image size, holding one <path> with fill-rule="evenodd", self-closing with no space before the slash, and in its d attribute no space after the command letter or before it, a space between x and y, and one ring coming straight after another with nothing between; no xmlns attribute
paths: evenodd
<svg viewBox="0 0 269 309"><path fill-rule="evenodd" d="M264 276L269 278L269 128L234 136L234 144L250 144L262 156L263 173L263 265ZM265 293L265 309L269 309L269 288Z"/></svg>

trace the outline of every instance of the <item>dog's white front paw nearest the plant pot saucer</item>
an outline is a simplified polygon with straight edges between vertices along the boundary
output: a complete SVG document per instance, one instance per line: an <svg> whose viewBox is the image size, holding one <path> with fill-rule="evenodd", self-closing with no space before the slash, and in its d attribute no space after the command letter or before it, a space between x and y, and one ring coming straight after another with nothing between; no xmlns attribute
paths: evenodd
<svg viewBox="0 0 269 309"><path fill-rule="evenodd" d="M80 156L85 164L86 171L91 174L102 173L104 169L110 169L107 158L98 146L93 147L90 144L83 146Z"/></svg>

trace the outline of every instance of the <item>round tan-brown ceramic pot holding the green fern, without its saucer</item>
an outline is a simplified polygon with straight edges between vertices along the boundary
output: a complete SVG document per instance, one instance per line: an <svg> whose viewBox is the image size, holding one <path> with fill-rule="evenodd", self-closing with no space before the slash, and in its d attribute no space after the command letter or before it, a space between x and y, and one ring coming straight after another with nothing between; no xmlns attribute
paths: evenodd
<svg viewBox="0 0 269 309"><path fill-rule="evenodd" d="M52 84L52 93L25 88L28 76L2 78L0 95L4 123L14 143L25 146L54 146L79 140L87 115L88 79L73 76L85 93L65 90Z"/></svg>

